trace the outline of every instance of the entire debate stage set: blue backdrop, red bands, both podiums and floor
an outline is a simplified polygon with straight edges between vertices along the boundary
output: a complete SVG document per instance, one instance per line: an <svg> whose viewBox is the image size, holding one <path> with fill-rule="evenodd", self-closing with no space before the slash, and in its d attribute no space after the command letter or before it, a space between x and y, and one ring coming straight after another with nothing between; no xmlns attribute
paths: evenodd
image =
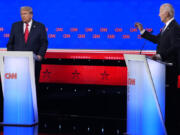
<svg viewBox="0 0 180 135"><path fill-rule="evenodd" d="M167 135L166 68L156 45L163 0L0 2L0 135ZM180 2L172 2L176 13ZM43 23L48 49L36 87L30 51L7 51L20 7ZM175 16L180 22L180 14ZM180 86L180 85L179 85Z"/></svg>

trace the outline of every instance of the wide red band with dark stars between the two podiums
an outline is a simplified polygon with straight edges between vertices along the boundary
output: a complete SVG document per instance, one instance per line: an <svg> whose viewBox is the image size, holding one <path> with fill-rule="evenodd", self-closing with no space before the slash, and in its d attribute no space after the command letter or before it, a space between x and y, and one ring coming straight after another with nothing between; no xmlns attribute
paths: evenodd
<svg viewBox="0 0 180 135"><path fill-rule="evenodd" d="M127 85L127 68L118 66L42 65L41 83Z"/></svg>

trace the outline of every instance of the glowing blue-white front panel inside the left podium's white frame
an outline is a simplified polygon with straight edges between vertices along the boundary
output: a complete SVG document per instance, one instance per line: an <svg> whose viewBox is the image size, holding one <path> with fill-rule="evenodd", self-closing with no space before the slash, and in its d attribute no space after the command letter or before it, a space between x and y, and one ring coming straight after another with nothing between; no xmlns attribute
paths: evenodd
<svg viewBox="0 0 180 135"><path fill-rule="evenodd" d="M28 58L4 58L4 123L34 123Z"/></svg>

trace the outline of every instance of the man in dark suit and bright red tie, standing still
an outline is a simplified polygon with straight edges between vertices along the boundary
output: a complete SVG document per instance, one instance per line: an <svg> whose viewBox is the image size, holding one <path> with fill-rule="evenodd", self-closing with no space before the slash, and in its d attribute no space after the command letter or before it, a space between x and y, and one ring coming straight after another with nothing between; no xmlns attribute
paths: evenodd
<svg viewBox="0 0 180 135"><path fill-rule="evenodd" d="M21 7L22 21L12 25L8 51L32 51L35 59L35 79L38 85L41 61L46 53L48 40L46 28L42 23L32 20L33 11L31 7Z"/></svg>

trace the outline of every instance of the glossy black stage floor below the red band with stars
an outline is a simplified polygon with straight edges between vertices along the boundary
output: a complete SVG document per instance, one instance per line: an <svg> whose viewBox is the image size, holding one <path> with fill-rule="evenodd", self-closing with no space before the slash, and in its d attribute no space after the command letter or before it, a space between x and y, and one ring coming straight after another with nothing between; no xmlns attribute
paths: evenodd
<svg viewBox="0 0 180 135"><path fill-rule="evenodd" d="M37 126L1 126L0 135L123 135L126 132L126 87L41 84L38 109Z"/></svg>

